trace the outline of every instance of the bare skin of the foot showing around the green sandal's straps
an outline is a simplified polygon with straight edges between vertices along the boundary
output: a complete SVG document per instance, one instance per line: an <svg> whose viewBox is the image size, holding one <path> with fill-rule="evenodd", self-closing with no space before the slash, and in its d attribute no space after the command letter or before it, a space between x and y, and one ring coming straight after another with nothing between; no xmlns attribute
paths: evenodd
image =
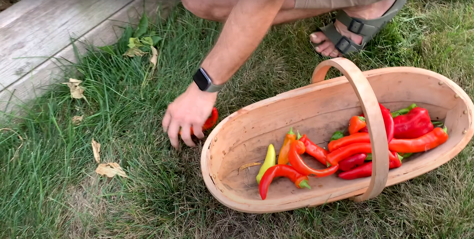
<svg viewBox="0 0 474 239"><path fill-rule="evenodd" d="M387 10L389 10L395 0L383 0L378 1L370 5L366 6L356 6L344 9L346 14L353 18L360 18L360 19L376 19L381 17ZM354 41L356 44L362 43L362 36L357 35L349 30L347 30L347 26L342 24L340 21L336 20L334 22L334 27L336 30L343 36ZM313 32L310 35L311 42L314 43L321 43L315 50L321 55L326 57L342 57L343 55L336 49L334 43L329 40L324 33L318 31Z"/></svg>

